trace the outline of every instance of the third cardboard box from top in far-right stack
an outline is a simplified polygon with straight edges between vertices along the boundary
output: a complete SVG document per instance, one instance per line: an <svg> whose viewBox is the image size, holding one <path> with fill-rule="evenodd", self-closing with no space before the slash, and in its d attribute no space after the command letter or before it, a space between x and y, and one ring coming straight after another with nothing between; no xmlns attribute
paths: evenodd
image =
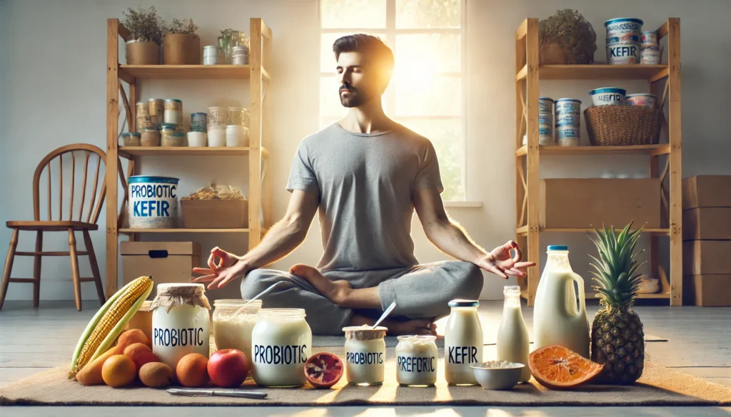
<svg viewBox="0 0 731 417"><path fill-rule="evenodd" d="M683 242L683 274L731 274L731 240Z"/></svg>

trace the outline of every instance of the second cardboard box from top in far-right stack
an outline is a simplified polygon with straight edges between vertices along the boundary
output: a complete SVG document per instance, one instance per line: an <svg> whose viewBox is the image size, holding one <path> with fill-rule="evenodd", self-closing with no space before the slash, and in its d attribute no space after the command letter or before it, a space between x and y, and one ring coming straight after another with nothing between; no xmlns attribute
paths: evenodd
<svg viewBox="0 0 731 417"><path fill-rule="evenodd" d="M683 240L731 239L731 207L683 210Z"/></svg>

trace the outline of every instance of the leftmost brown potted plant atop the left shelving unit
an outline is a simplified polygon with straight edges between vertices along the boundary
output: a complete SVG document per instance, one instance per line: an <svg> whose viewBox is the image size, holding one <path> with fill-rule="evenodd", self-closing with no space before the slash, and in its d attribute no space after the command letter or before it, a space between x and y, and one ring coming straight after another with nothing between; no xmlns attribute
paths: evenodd
<svg viewBox="0 0 731 417"><path fill-rule="evenodd" d="M129 31L126 42L126 58L129 65L160 64L162 30L155 7L123 12L122 24Z"/></svg>

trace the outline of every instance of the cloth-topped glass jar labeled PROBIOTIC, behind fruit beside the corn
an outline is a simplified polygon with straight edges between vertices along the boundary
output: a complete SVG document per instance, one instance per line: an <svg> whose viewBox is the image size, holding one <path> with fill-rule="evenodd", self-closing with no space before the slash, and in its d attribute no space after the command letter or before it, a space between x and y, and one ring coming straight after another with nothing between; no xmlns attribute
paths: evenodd
<svg viewBox="0 0 731 417"><path fill-rule="evenodd" d="M211 305L203 284L159 284L152 301L152 352L175 369L189 353L208 358Z"/></svg>

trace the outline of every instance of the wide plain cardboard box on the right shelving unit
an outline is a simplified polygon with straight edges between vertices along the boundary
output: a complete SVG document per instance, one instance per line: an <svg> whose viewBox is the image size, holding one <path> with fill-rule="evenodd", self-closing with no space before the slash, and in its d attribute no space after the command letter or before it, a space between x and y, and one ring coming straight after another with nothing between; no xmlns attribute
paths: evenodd
<svg viewBox="0 0 731 417"><path fill-rule="evenodd" d="M660 226L657 178L551 178L540 189L542 228Z"/></svg>

